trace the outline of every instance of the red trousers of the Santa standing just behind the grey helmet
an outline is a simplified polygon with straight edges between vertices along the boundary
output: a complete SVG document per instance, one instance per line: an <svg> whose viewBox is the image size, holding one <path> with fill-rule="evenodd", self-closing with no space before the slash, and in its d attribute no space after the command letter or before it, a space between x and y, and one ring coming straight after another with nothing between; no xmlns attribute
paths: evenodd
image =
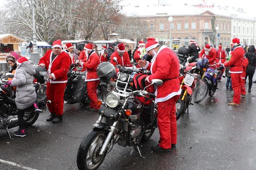
<svg viewBox="0 0 256 170"><path fill-rule="evenodd" d="M97 87L99 85L98 80L96 81L87 81L87 95L91 99L91 102L89 104L90 108L98 109L99 106L96 104L96 101L98 100L97 97Z"/></svg>

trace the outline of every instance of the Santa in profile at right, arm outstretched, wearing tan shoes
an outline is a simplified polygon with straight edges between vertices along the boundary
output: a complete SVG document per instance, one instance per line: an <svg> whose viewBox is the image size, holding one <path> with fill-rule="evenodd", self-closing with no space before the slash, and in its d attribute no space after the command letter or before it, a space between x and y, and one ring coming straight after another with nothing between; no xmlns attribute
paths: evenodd
<svg viewBox="0 0 256 170"><path fill-rule="evenodd" d="M232 40L234 51L232 53L231 59L219 67L219 70L223 68L230 67L230 76L232 80L232 88L234 90L233 101L228 103L230 106L238 106L241 100L241 82L242 82L242 73L243 73L243 56L244 50L240 45L240 40L234 38Z"/></svg>

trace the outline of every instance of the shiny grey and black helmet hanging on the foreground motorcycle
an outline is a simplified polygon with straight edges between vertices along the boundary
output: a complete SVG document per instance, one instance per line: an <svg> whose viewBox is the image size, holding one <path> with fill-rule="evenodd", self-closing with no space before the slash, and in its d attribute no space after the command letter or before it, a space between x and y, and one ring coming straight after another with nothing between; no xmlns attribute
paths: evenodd
<svg viewBox="0 0 256 170"><path fill-rule="evenodd" d="M102 62L97 68L97 75L101 81L108 82L116 75L115 67L109 62Z"/></svg>

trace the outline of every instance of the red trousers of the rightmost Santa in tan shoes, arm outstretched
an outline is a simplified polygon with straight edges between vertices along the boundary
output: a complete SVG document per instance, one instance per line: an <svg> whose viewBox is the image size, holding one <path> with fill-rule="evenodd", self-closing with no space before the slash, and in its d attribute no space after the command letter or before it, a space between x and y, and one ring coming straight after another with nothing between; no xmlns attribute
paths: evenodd
<svg viewBox="0 0 256 170"><path fill-rule="evenodd" d="M232 80L232 89L234 90L233 102L240 104L242 73L230 73L230 77Z"/></svg>

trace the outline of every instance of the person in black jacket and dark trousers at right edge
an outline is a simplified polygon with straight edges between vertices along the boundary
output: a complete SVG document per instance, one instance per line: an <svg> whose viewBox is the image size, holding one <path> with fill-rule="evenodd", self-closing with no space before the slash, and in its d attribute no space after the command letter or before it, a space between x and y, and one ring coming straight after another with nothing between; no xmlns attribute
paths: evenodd
<svg viewBox="0 0 256 170"><path fill-rule="evenodd" d="M248 52L245 53L245 57L247 57L249 64L246 69L246 76L245 76L245 81L247 79L247 76L249 77L249 89L248 92L251 92L252 88L252 78L255 72L256 68L256 53L255 53L255 47L254 45L251 45L248 47Z"/></svg>

